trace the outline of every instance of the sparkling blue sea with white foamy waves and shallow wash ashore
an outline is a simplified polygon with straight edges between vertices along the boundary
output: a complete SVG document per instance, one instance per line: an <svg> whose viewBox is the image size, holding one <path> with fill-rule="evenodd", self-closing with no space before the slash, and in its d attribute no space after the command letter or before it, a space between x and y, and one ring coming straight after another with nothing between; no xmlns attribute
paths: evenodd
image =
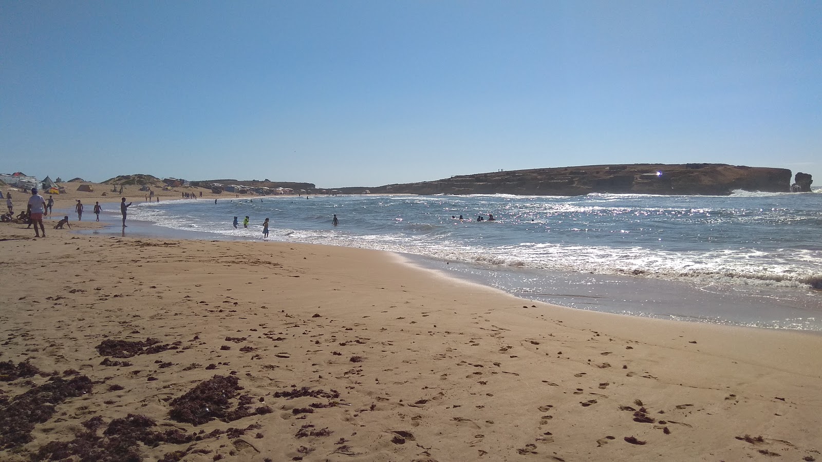
<svg viewBox="0 0 822 462"><path fill-rule="evenodd" d="M269 218L270 241L399 252L566 307L822 330L818 192L216 198L135 204L129 219L154 235L261 239Z"/></svg>

